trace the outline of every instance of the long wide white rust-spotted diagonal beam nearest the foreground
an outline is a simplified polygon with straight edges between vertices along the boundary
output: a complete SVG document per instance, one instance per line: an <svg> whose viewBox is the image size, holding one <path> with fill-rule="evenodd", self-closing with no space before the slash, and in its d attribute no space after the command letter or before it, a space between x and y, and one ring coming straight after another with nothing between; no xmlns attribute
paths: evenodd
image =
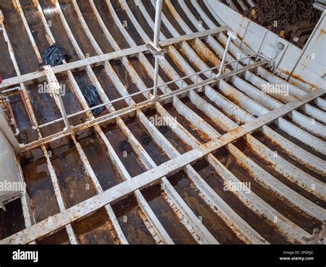
<svg viewBox="0 0 326 267"><path fill-rule="evenodd" d="M314 100L314 98L320 96L320 94L323 94L323 92L316 90L308 96L305 96L301 101L296 103L288 103L279 109L274 109L268 114L265 114L260 118L255 118L251 122L248 122L246 125L241 125L237 129L232 130L223 136L220 136L219 138L211 140L204 145L200 145L199 147L192 149L191 151L188 151L181 156L178 156L177 158L173 158L172 160L169 160L158 167L141 173L131 180L127 180L121 184L113 186L111 189L91 197L88 200L85 200L84 202L81 202L80 204L67 209L66 211L58 213L57 215L54 215L44 220L43 222L34 224L33 226L30 226L29 228L26 228L19 233L7 237L6 239L1 240L0 244L26 244L32 242L39 237L42 237L48 233L51 233L52 231L55 231L58 228L65 226L66 224L78 220L80 217L100 209L102 206L105 206L114 200L118 200L118 198L122 197L123 195L127 195L136 189L143 188L144 186L151 184L151 182L154 182L157 179L182 169L187 164L191 164L192 162L197 161L199 158L206 156L208 153L228 145L230 142L232 142L232 140L241 138L241 136L245 136L246 134L259 129L263 125L276 120L276 118L284 116L291 110L297 109L305 103Z"/></svg>

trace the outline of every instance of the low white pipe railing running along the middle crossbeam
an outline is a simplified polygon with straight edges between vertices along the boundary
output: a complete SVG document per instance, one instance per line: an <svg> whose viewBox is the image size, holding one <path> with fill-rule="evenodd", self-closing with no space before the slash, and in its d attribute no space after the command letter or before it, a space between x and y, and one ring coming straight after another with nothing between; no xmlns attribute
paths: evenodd
<svg viewBox="0 0 326 267"><path fill-rule="evenodd" d="M231 38L232 37L229 36L229 39L231 39ZM128 99L128 98L133 98L134 96L138 96L140 94L151 92L151 94L153 96L155 96L155 84L151 88L144 89L144 90L141 90L141 91L133 93L133 94L128 94L127 96L122 96L120 98L116 98L114 100L107 101L107 102L102 103L100 105L96 105L94 107L89 107L88 109L83 109L81 111L75 112L74 114L69 114L69 115L65 114L65 109L64 109L64 107L62 105L61 114L62 114L63 117L58 118L56 120L52 120L50 122L46 122L43 125L39 125L37 127L35 127L34 124L32 123L32 129L42 129L44 127L48 127L50 125L53 125L55 123L62 122L62 121L65 122L65 129L63 129L63 131L58 131L57 133L53 133L51 136L47 136L46 138L36 140L36 141L31 142L29 144L21 144L21 149L19 149L19 151L25 151L25 150L30 149L32 147L37 147L39 145L43 145L46 142L50 142L52 140L56 140L58 138L66 136L67 134L69 134L69 133L71 133L73 131L85 129L87 127L91 127L91 126L96 125L98 123L105 122L107 120L111 120L113 118L116 118L117 116L130 114L131 112L135 111L135 109L139 109L141 107L144 107L145 105L151 105L153 103L160 102L162 100L168 100L169 98L172 98L174 96L179 96L180 94L184 94L184 93L186 93L188 91L195 90L195 89L198 89L200 87L204 87L206 85L210 85L212 83L215 83L215 82L219 81L220 79L228 78L228 77L230 77L232 75L236 75L236 74L239 74L241 72L245 72L246 70L250 70L251 68L254 68L254 67L258 66L257 63L254 63L252 65L246 65L245 67L239 67L239 63L241 61L244 61L244 60L248 59L248 58L254 58L254 61L257 61L257 59L259 57L263 58L263 61L261 63L259 63L259 65L269 63L268 59L264 58L259 53L255 53L255 54L252 54L250 56L246 56L246 57L243 57L243 58L239 58L239 59L237 59L235 61L230 61L228 63L225 63L225 59L226 59L225 55L227 54L227 52L228 52L228 50L227 50L227 47L226 47L226 50L224 51L224 61L221 61L220 65L217 65L215 67L210 67L209 69L203 70L201 72L195 72L193 74L183 76L181 78L177 78L177 79L175 79L173 81L169 81L167 83L162 83L161 85L157 85L157 87L156 87L156 89L160 88L160 89L163 89L162 92L165 92L164 87L169 87L169 85L181 81L182 83L181 83L180 89L174 90L173 92L164 93L164 94L162 94L160 96L157 95L155 98L152 97L151 100L144 100L141 103L138 103L137 105L135 105L135 107L129 107L129 108L126 108L126 109L120 109L118 111L110 112L109 114L106 114L105 116L99 116L97 118L94 118L92 120L87 120L87 122L83 122L83 123L80 123L80 124L74 125L74 126L69 125L69 122L68 122L69 118L73 118L73 117L78 116L80 114L85 114L85 113L87 113L89 111L92 111L94 109L98 109L99 107L105 107L107 105L112 105L113 103L118 103L119 101L122 101L122 100L125 100L125 99ZM226 74L222 74L222 70L224 69L224 67L226 65L231 65L233 63L237 63L236 67L233 67L234 70L229 71ZM217 74L213 72L214 70L217 70ZM47 68L47 72L52 72L52 69ZM199 80L199 75L207 73L207 72L211 73L210 78L206 78L206 79L204 79L204 81L199 82L198 81ZM184 83L185 83L184 80L186 80L187 78L191 78L193 76L197 76L197 83L193 83L191 85L183 86ZM55 78L54 74L51 77L52 78L50 80L52 80L52 83L55 82L55 84L58 85L58 83L57 83L58 81L56 81L56 78ZM49 77L47 77L47 80L49 80ZM50 87L52 86L52 83L49 82ZM6 89L5 91L0 92L0 94L11 93L11 92L13 92L14 90L17 90L17 89L19 90L19 93L22 93L20 87L14 87L14 88L11 88L11 89ZM52 93L55 93L54 89L52 91L51 91ZM24 102L24 105L25 105L25 101L24 101L25 98L24 98L23 94L21 94L21 96L23 98L23 102ZM28 108L27 107L25 107L25 108L28 111ZM11 114L10 116L12 116L12 118L14 119L13 114ZM29 113L28 113L28 116L30 117ZM30 118L30 121L32 122L31 118ZM16 131L16 133L17 133L17 131Z"/></svg>

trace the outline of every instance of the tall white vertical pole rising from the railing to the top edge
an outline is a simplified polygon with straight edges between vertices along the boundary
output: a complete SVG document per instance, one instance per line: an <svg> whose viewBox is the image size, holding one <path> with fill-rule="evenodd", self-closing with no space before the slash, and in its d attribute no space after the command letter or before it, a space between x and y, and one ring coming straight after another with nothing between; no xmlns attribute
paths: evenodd
<svg viewBox="0 0 326 267"><path fill-rule="evenodd" d="M153 44L155 47L160 45L160 30L161 30L161 17L162 17L162 5L163 0L156 1L156 11L155 11L155 30L154 30L154 40ZM154 74L154 92L152 100L157 100L157 83L158 83L158 69L160 67L160 56L155 56L155 74Z"/></svg>

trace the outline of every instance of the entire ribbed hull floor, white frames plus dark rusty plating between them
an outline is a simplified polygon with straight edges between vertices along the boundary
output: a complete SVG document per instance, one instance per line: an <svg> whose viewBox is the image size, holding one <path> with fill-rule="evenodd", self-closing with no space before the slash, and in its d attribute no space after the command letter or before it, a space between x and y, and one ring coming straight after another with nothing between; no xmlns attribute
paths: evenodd
<svg viewBox="0 0 326 267"><path fill-rule="evenodd" d="M155 1L0 6L1 47L8 45L11 62L1 67L0 90L19 85L25 98L24 106L18 94L9 96L27 184L25 226L0 244L305 244L321 227L325 91L294 87L235 43L217 79L228 27L212 21L205 1L164 1L160 45L167 54L154 102L145 44L153 39ZM19 36L30 40L25 49ZM56 42L72 63L35 72L41 51ZM63 131L58 98L37 91L44 81L66 86L73 129ZM97 118L83 96L87 83L106 108ZM289 94L265 93L267 83L284 84ZM38 167L46 170L36 181L31 170ZM242 187L224 190L232 185ZM52 211L43 203L49 199ZM94 225L94 217L102 221Z"/></svg>

